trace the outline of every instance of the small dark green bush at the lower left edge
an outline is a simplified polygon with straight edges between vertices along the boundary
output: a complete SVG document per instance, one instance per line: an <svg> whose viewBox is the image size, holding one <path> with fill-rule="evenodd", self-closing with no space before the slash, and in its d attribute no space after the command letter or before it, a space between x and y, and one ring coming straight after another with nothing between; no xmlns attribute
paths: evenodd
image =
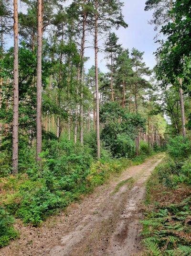
<svg viewBox="0 0 191 256"><path fill-rule="evenodd" d="M19 233L14 229L14 218L3 207L0 207L0 247L6 246L11 239L18 237Z"/></svg>

